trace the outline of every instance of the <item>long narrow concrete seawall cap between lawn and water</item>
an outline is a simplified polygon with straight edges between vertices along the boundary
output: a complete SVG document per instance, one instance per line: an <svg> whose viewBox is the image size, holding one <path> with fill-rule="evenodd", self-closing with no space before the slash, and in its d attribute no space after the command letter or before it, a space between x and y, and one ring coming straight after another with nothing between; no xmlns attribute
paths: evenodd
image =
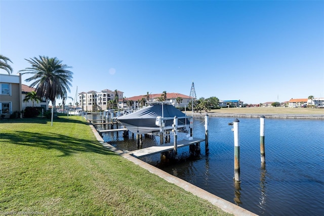
<svg viewBox="0 0 324 216"><path fill-rule="evenodd" d="M93 125L90 124L90 127L92 128L92 131L95 134L97 140L101 143L101 145L104 148L107 148L109 151L112 151L112 152L120 155L121 157L124 157L124 158L132 161L133 163L139 165L140 167L148 170L151 173L158 175L161 178L164 178L166 181L168 181L172 184L175 184L175 185L179 186L180 188L183 188L184 190L192 193L193 195L196 195L197 197L200 197L202 199L209 201L210 203L212 203L213 205L216 205L217 207L221 208L225 212L228 212L228 213L231 213L234 215L240 215L240 216L257 215L251 211L248 211L242 207L235 205L234 203L228 202L227 200L224 200L218 196L215 196L212 193L209 193L197 186L194 186L194 185L182 180L181 178L173 176L163 170L160 170L150 164L147 164L147 163L141 161L140 159L137 159L137 158L131 156L128 153L124 153L123 151L116 149L115 147L109 145L107 142L105 142L103 140L103 138L99 135L98 131L96 130L96 128Z"/></svg>

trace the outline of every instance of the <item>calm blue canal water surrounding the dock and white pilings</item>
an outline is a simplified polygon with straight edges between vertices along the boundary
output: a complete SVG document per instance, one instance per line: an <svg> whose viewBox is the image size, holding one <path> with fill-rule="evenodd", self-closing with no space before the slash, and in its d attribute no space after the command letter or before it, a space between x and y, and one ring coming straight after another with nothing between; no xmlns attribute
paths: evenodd
<svg viewBox="0 0 324 216"><path fill-rule="evenodd" d="M324 121L265 119L266 167L260 163L260 119L239 119L240 180L233 182L234 118L209 118L209 153L178 150L179 160L161 161L160 154L142 160L216 196L259 215L323 215ZM107 126L102 126L107 128ZM194 117L194 137L205 138L204 118ZM104 133L121 150L136 150L136 136ZM178 139L181 135L178 134ZM171 136L171 142L173 142ZM143 146L158 145L159 137L143 138Z"/></svg>

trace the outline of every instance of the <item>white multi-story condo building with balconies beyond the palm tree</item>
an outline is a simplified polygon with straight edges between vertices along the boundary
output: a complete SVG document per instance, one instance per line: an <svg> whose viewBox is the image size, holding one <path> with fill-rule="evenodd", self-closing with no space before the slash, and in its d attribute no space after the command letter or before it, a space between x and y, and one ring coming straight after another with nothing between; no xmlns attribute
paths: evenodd
<svg viewBox="0 0 324 216"><path fill-rule="evenodd" d="M100 92L88 91L78 93L78 102L76 107L81 108L87 112L94 112L100 110L113 109L116 102L114 99L116 97L115 91L109 89L104 89ZM124 92L118 91L118 98L124 97ZM119 106L119 105L118 105ZM118 107L118 109L123 109L123 107Z"/></svg>

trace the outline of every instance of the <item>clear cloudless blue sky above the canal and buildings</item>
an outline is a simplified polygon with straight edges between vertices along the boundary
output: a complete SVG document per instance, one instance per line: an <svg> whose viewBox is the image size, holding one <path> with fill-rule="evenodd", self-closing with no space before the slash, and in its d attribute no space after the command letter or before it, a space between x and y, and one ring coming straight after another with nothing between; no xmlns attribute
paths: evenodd
<svg viewBox="0 0 324 216"><path fill-rule="evenodd" d="M76 87L189 95L192 82L198 98L324 97L324 1L2 0L0 7L0 53L13 74L30 66L25 59L57 57L72 66L73 98Z"/></svg>

